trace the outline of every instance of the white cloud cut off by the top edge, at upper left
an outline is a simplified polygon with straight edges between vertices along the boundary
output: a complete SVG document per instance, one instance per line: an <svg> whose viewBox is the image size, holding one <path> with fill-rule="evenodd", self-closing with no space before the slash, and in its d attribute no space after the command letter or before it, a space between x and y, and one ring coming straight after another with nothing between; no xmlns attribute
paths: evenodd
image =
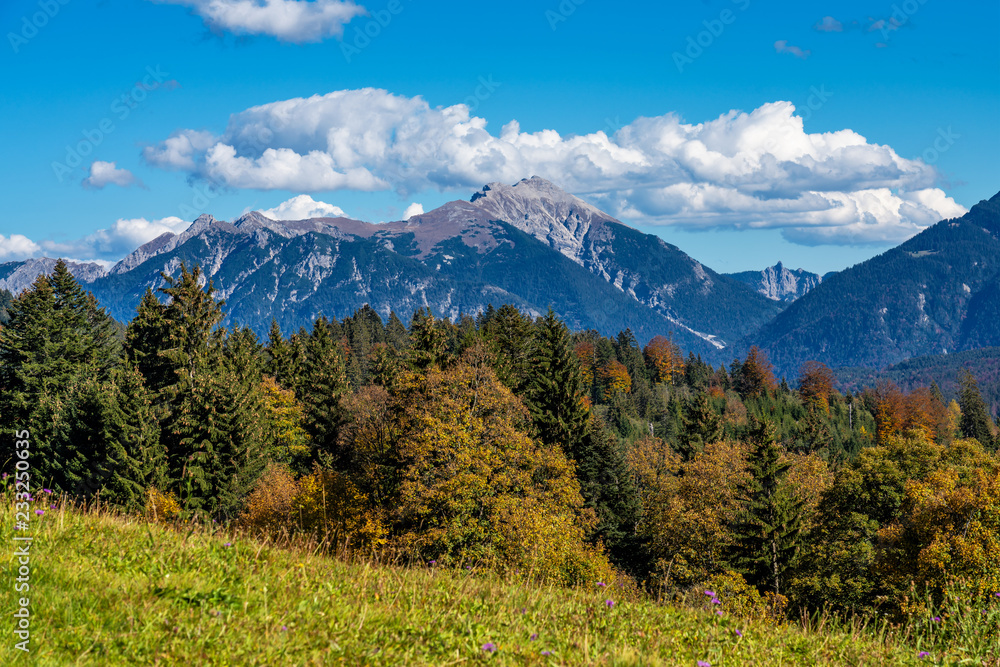
<svg viewBox="0 0 1000 667"><path fill-rule="evenodd" d="M190 7L215 31L270 35L302 44L341 37L344 26L368 12L341 0L153 0Z"/></svg>

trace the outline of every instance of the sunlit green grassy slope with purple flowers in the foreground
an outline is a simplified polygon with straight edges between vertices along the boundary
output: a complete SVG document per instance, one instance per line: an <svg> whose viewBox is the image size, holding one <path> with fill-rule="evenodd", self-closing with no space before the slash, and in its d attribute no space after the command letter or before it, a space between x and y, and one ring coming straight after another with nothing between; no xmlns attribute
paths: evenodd
<svg viewBox="0 0 1000 667"><path fill-rule="evenodd" d="M73 511L50 510L30 533L32 653L14 650L4 632L4 665L927 664L868 635L748 624L596 585L347 564ZM11 551L0 561L5 613L14 606ZM487 642L498 650L484 652Z"/></svg>

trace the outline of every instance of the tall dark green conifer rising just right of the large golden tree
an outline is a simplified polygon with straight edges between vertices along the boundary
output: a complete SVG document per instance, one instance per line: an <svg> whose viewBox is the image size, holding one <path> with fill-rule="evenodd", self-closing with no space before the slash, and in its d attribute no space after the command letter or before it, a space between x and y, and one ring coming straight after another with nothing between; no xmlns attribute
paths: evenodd
<svg viewBox="0 0 1000 667"><path fill-rule="evenodd" d="M589 410L569 331L551 309L535 325L531 349L524 403L542 442L572 456L586 436Z"/></svg>

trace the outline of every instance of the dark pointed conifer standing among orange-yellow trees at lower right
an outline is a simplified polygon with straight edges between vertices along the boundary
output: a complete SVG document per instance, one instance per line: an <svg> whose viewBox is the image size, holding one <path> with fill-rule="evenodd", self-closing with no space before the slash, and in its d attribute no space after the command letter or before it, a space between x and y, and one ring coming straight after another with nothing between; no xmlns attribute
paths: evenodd
<svg viewBox="0 0 1000 667"><path fill-rule="evenodd" d="M752 419L750 479L741 489L743 510L732 526L732 561L749 583L781 594L801 541L802 503L782 488L791 463L781 460L774 427Z"/></svg>

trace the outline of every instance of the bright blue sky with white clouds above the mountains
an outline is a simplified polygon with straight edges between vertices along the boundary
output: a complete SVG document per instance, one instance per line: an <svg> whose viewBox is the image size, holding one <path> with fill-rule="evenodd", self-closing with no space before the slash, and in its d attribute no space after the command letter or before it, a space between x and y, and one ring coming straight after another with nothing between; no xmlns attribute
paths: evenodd
<svg viewBox="0 0 1000 667"><path fill-rule="evenodd" d="M716 270L826 272L1000 190L995 1L263 4L3 3L0 261L538 173Z"/></svg>

